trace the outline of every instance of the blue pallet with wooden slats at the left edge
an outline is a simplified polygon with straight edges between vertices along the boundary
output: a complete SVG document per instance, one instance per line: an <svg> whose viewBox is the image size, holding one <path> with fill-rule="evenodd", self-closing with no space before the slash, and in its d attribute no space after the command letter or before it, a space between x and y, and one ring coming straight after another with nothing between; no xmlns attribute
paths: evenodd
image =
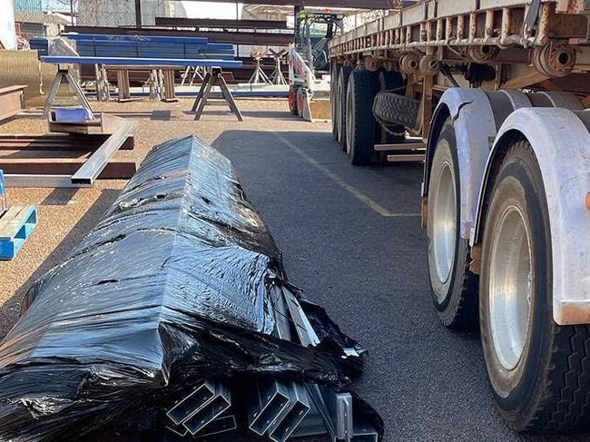
<svg viewBox="0 0 590 442"><path fill-rule="evenodd" d="M12 260L37 225L34 206L13 206L0 218L0 260Z"/></svg>

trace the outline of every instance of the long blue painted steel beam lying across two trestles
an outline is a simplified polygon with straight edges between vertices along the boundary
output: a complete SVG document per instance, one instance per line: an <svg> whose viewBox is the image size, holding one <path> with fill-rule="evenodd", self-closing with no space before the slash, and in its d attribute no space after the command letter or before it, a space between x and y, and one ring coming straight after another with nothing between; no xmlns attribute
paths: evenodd
<svg viewBox="0 0 590 442"><path fill-rule="evenodd" d="M67 57L47 56L41 57L41 61L50 64L117 64L117 65L143 65L143 66L214 66L214 67L241 67L241 61L237 60L197 60L184 58L126 58L126 57Z"/></svg>

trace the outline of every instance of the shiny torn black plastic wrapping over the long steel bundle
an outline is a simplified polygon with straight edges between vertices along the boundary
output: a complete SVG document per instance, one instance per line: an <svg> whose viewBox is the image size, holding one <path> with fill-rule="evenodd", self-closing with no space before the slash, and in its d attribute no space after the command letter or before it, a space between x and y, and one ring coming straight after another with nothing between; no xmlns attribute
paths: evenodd
<svg viewBox="0 0 590 442"><path fill-rule="evenodd" d="M301 296L231 162L196 137L156 146L0 344L0 440L150 428L213 376L346 387L361 361L344 349L358 344L305 300L320 345L270 336L273 285Z"/></svg>

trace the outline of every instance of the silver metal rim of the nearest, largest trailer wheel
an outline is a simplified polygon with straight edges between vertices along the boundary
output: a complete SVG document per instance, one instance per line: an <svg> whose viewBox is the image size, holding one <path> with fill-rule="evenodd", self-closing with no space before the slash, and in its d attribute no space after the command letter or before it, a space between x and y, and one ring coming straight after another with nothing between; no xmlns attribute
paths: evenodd
<svg viewBox="0 0 590 442"><path fill-rule="evenodd" d="M511 370L525 348L534 289L530 232L516 205L509 205L502 213L491 248L490 329L497 359Z"/></svg>

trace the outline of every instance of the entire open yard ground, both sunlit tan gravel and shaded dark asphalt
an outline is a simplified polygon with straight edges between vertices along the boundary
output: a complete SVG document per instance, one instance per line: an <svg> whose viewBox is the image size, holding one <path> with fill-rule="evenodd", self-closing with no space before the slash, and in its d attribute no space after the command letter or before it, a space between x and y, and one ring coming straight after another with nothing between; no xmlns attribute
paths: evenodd
<svg viewBox="0 0 590 442"><path fill-rule="evenodd" d="M284 253L290 279L369 349L355 388L384 418L386 441L589 440L512 433L494 409L477 335L439 324L419 227L421 166L352 167L328 123L292 117L283 100L240 100L243 123L221 111L193 122L184 112L190 105L95 107L139 121L137 147L122 157L140 162L152 145L195 133L231 158ZM41 120L0 126L3 133L43 130ZM64 259L123 185L10 190L15 201L37 205L40 221L20 255L0 262L0 334L14 324L31 283Z"/></svg>

